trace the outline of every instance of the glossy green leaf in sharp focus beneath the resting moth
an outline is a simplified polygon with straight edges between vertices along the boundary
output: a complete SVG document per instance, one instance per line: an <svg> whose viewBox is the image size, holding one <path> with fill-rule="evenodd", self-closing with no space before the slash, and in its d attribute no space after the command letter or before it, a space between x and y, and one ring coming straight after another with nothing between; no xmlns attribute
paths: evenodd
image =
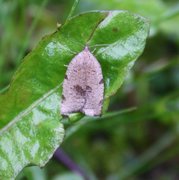
<svg viewBox="0 0 179 180"><path fill-rule="evenodd" d="M41 40L0 96L0 179L30 164L44 166L61 144L61 85L71 59L89 46L102 66L108 99L142 53L148 30L144 18L127 11L94 11Z"/></svg>

